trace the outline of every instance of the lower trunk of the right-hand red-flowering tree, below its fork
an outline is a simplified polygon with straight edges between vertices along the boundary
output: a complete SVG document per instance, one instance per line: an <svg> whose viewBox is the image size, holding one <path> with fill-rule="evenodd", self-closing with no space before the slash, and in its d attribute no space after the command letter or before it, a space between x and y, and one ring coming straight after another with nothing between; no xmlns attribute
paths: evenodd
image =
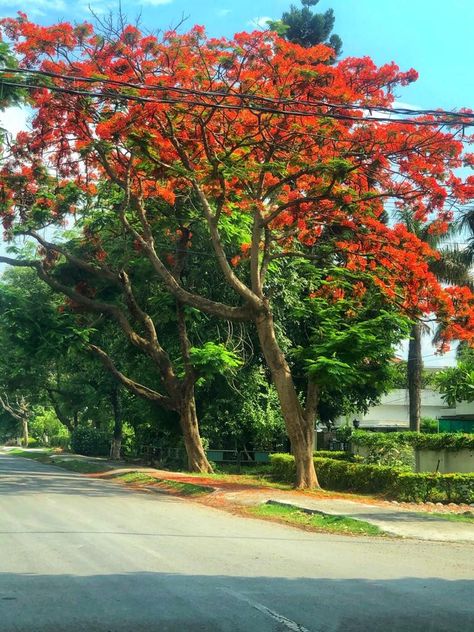
<svg viewBox="0 0 474 632"><path fill-rule="evenodd" d="M256 319L260 345L280 400L291 449L296 463L295 485L300 489L319 487L314 469L314 415L305 415L298 399L291 369L275 337L269 311Z"/></svg>

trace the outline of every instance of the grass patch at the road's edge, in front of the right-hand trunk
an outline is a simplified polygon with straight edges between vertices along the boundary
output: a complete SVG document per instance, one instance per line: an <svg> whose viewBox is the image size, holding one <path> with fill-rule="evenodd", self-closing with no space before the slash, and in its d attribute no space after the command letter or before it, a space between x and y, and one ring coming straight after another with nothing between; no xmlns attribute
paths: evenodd
<svg viewBox="0 0 474 632"><path fill-rule="evenodd" d="M279 522L285 522L296 527L304 527L311 531L342 533L346 535L385 535L382 529L363 520L356 520L355 518L348 518L347 516L311 514L297 507L263 504L257 507L250 507L249 511L259 518L267 520L278 519Z"/></svg>

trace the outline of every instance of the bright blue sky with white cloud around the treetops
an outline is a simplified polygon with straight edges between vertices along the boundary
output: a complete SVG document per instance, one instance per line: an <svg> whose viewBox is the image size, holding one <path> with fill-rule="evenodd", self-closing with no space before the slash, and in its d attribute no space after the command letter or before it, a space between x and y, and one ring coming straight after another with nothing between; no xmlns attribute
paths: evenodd
<svg viewBox="0 0 474 632"><path fill-rule="evenodd" d="M279 18L291 0L122 0L130 21L141 13L148 30L168 29L187 17L183 29L203 24L213 36L253 30L265 18ZM299 6L299 0L293 0ZM91 19L116 10L116 0L0 0L0 15L26 12L32 20ZM398 101L414 107L474 108L474 0L321 0L317 9L333 8L335 32L343 40L343 56L369 55L377 64L395 61L403 70L415 68L418 82L401 90ZM0 115L11 131L25 125L23 112ZM453 354L434 355L424 341L428 366L450 364Z"/></svg>

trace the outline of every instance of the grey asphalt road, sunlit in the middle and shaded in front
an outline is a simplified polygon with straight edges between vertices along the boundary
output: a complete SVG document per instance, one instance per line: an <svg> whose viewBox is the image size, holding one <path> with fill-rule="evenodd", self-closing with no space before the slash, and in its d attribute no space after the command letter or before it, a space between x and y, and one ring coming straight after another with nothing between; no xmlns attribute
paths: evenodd
<svg viewBox="0 0 474 632"><path fill-rule="evenodd" d="M1 632L468 632L474 546L311 534L0 455Z"/></svg>

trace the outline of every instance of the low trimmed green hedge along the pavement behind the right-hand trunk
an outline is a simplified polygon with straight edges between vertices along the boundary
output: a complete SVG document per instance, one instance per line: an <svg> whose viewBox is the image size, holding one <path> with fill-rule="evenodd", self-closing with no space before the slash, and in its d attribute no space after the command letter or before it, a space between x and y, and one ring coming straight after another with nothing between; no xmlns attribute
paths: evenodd
<svg viewBox="0 0 474 632"><path fill-rule="evenodd" d="M295 459L291 454L271 454L270 461L275 480L295 481ZM320 458L314 459L314 465L325 489L383 494L401 501L474 502L474 474L402 472L382 465Z"/></svg>

